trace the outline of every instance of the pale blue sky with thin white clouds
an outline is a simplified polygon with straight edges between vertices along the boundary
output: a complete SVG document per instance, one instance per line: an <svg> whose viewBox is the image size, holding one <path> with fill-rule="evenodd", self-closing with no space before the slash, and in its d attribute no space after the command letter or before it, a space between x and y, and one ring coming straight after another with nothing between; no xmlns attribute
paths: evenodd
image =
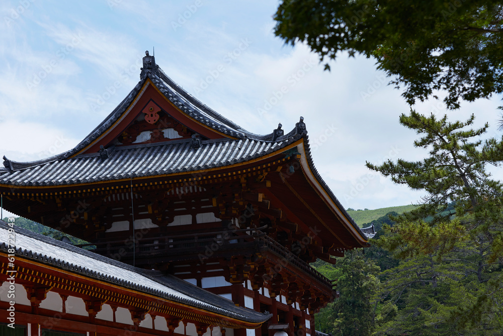
<svg viewBox="0 0 503 336"><path fill-rule="evenodd" d="M2 1L0 155L32 161L74 147L139 81L141 57L203 103L255 133L305 118L314 163L346 208L415 203L422 193L371 173L365 162L421 159L398 124L409 106L372 59L346 54L331 71L308 48L274 36L277 1ZM463 104L495 124L500 101ZM415 106L446 113L442 103ZM490 135L500 133L491 127Z"/></svg>

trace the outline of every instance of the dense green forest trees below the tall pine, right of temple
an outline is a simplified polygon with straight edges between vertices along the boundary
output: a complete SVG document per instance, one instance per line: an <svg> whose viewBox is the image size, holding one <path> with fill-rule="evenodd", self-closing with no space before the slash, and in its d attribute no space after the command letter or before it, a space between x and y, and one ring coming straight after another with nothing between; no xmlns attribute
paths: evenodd
<svg viewBox="0 0 503 336"><path fill-rule="evenodd" d="M374 242L397 216L373 221ZM501 334L501 262L481 263L480 252L466 243L440 261L435 253L394 257L378 244L347 252L335 265L312 264L337 279L340 292L315 315L317 330L332 335Z"/></svg>

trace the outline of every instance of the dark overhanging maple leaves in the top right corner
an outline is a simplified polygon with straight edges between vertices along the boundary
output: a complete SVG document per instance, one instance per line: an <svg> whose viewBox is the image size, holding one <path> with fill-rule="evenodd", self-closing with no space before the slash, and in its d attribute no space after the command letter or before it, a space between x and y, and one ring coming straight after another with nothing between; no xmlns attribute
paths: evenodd
<svg viewBox="0 0 503 336"><path fill-rule="evenodd" d="M503 92L499 2L284 0L274 19L277 36L321 61L340 51L375 58L411 105L437 90L450 109Z"/></svg>

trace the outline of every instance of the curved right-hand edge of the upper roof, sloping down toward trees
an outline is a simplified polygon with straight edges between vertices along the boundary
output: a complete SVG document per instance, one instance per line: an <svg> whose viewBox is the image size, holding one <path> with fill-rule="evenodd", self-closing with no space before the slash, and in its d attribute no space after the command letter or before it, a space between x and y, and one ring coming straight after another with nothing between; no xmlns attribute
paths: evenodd
<svg viewBox="0 0 503 336"><path fill-rule="evenodd" d="M306 177L309 179L313 187L324 199L325 203L330 207L330 209L334 213L336 213L339 218L342 219L343 225L352 234L352 236L355 237L358 243L362 247L368 246L367 235L362 232L358 224L356 224L353 218L351 218L351 216L346 212L346 209L344 209L340 201L333 194L325 181L323 181L320 174L314 167L307 137L303 137L299 141L299 147L299 152L303 153L303 155L301 155L300 162Z"/></svg>

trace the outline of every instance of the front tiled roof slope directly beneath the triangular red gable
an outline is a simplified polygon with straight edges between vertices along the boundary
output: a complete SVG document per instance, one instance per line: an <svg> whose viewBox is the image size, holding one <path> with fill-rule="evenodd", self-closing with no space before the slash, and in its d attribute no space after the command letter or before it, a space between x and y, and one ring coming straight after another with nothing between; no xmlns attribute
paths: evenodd
<svg viewBox="0 0 503 336"><path fill-rule="evenodd" d="M293 139L279 142L207 140L202 141L200 148L193 148L190 139L124 146L108 158L92 153L15 171L0 170L0 183L61 185L190 172L256 159L291 144Z"/></svg>

